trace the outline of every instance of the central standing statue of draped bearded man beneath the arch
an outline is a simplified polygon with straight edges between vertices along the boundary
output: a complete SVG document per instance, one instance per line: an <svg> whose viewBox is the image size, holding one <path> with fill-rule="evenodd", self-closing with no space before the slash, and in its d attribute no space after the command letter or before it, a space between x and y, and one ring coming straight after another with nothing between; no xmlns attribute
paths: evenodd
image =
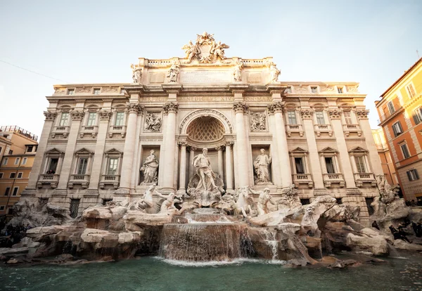
<svg viewBox="0 0 422 291"><path fill-rule="evenodd" d="M203 153L193 158L193 166L196 167L196 172L200 178L198 186L196 186L197 190L212 191L217 188L217 186L215 186L215 174L211 169L207 148L203 148Z"/></svg>

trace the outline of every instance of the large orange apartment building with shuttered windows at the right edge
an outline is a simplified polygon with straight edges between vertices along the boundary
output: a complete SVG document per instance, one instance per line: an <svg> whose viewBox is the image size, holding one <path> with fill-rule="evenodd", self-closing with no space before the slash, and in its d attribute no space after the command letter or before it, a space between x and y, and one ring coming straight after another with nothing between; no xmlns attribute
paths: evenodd
<svg viewBox="0 0 422 291"><path fill-rule="evenodd" d="M422 196L422 58L376 101L404 198Z"/></svg>

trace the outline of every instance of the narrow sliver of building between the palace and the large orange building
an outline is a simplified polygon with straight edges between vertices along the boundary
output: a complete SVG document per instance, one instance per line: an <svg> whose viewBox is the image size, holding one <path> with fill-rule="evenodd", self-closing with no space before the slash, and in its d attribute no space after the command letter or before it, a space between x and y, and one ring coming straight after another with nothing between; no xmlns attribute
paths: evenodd
<svg viewBox="0 0 422 291"><path fill-rule="evenodd" d="M372 136L376 148L378 149L378 155L380 156L381 165L383 166L385 179L390 185L397 185L399 181L397 181L394 163L392 162L390 149L385 140L383 128L379 127L378 129L372 129Z"/></svg>

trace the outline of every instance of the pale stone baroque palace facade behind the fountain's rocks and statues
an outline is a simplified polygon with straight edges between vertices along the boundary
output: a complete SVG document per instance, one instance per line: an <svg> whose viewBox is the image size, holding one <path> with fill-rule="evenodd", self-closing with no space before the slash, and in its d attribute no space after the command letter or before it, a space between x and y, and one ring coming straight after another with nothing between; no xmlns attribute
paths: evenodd
<svg viewBox="0 0 422 291"><path fill-rule="evenodd" d="M131 84L54 86L23 199L75 216L139 199L151 183L189 193L207 148L226 193L250 186L279 197L294 184L304 204L329 194L365 219L383 169L359 84L279 82L272 58L226 58L228 47L205 32L185 58L139 58Z"/></svg>

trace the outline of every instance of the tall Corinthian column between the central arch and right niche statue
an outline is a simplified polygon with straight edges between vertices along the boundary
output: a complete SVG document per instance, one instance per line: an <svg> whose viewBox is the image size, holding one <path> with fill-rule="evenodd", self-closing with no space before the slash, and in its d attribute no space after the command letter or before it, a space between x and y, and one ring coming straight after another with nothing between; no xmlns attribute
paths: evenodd
<svg viewBox="0 0 422 291"><path fill-rule="evenodd" d="M237 150L237 168L239 187L248 186L248 148L246 141L244 112L249 106L243 102L235 102L233 110L236 112L236 150Z"/></svg>

